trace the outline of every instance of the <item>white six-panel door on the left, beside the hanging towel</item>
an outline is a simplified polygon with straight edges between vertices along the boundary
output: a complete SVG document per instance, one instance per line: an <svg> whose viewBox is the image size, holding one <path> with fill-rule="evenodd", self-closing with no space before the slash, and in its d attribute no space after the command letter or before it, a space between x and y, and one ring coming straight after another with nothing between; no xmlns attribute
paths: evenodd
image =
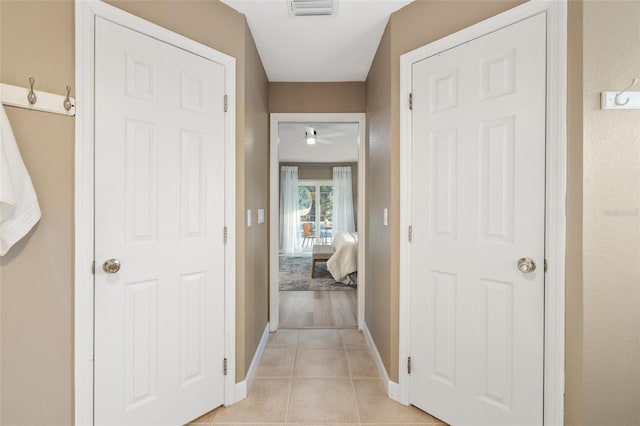
<svg viewBox="0 0 640 426"><path fill-rule="evenodd" d="M224 78L96 20L97 425L178 425L223 403Z"/></svg>

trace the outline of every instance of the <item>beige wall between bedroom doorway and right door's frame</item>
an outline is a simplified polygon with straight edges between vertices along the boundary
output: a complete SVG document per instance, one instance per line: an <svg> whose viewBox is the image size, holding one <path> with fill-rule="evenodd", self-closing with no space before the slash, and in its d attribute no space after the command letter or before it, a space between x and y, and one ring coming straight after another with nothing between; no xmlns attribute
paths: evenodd
<svg viewBox="0 0 640 426"><path fill-rule="evenodd" d="M368 225L379 229L377 239L367 242L367 301L390 323L367 315L367 326L381 352L391 380L398 380L398 299L400 236L400 55L452 34L486 18L497 15L521 0L422 0L411 3L391 15L382 43L367 77L367 119L369 125L367 201ZM387 69L388 68L388 69ZM383 74L388 73L388 77ZM381 76L383 75L383 76ZM388 86L388 87L387 87ZM387 94L388 91L388 94ZM370 97L374 99L370 99ZM388 104L388 105L387 105ZM369 108L373 109L373 114ZM389 108L388 111L385 110ZM377 167L374 169L373 165ZM378 168L379 167L379 168ZM380 211L389 208L390 227L378 228ZM375 240L375 241L374 241ZM375 270L373 270L375 269ZM374 277L373 280L371 277ZM373 281L373 282L372 282ZM372 294L373 293L373 294ZM378 302L376 302L378 301ZM370 311L371 312L371 311ZM369 321L372 321L370 323Z"/></svg>

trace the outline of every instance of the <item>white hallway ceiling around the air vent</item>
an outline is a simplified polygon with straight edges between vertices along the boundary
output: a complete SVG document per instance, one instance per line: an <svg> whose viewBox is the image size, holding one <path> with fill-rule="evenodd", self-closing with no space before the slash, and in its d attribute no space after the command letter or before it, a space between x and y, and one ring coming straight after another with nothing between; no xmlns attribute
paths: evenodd
<svg viewBox="0 0 640 426"><path fill-rule="evenodd" d="M222 0L244 13L269 81L365 81L389 16L413 0L336 0L290 18L287 0Z"/></svg>

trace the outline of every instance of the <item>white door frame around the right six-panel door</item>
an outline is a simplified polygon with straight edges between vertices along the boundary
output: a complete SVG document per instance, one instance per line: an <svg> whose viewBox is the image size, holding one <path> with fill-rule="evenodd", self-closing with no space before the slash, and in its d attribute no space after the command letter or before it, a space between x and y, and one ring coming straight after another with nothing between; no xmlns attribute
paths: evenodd
<svg viewBox="0 0 640 426"><path fill-rule="evenodd" d="M409 99L412 65L422 59L499 30L533 15L547 14L546 100L546 229L544 324L544 424L564 422L564 311L566 222L566 93L567 3L533 0L400 57L400 98ZM400 229L411 224L411 113L408 102L400 108ZM404 234L403 234L404 235ZM399 402L408 404L410 356L411 244L400 241L400 371Z"/></svg>

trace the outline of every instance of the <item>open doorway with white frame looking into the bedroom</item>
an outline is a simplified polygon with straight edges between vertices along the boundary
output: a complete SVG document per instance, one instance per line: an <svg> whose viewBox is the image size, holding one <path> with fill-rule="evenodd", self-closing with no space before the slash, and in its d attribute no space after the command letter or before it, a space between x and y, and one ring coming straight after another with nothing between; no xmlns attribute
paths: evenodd
<svg viewBox="0 0 640 426"><path fill-rule="evenodd" d="M270 327L363 318L364 114L272 114Z"/></svg>

